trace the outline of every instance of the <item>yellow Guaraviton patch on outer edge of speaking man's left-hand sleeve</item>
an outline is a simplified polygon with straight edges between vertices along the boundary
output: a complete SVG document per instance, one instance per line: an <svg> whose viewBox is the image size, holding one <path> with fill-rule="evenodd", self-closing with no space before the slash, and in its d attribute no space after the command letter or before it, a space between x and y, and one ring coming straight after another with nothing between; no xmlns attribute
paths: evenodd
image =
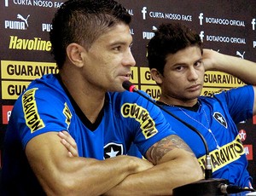
<svg viewBox="0 0 256 196"><path fill-rule="evenodd" d="M38 114L38 107L35 101L35 93L38 88L27 90L24 95L22 95L22 107L24 112L24 117L26 120L26 125L31 130L31 133L36 130L44 128L44 122Z"/></svg>

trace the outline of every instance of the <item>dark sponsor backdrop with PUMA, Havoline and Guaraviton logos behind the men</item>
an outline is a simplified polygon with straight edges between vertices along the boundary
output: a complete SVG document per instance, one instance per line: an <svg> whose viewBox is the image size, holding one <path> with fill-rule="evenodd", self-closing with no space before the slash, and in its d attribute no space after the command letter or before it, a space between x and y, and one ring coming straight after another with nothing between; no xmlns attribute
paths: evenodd
<svg viewBox="0 0 256 196"><path fill-rule="evenodd" d="M51 19L64 0L1 0L0 4L0 145L17 97L32 79L58 72L50 55ZM200 34L204 47L227 55L256 61L256 0L119 0L132 16L133 55L131 82L154 99L160 89L148 70L146 46L154 30L163 22L181 22ZM243 65L241 65L243 66ZM222 72L206 72L202 95L220 89L244 85L241 80ZM249 162L248 170L256 182L256 118L237 124ZM254 141L254 142L253 142ZM236 151L236 147L230 148ZM228 162L223 154L214 166ZM1 153L2 154L2 153ZM229 153L230 159L233 153ZM0 156L1 159L1 156ZM0 160L0 166L2 161Z"/></svg>

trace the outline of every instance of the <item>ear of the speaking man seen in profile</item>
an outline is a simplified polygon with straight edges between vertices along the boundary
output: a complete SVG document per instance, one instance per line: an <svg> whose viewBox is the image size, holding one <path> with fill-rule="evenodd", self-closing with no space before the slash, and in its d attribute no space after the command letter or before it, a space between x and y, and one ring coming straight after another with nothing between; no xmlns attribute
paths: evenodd
<svg viewBox="0 0 256 196"><path fill-rule="evenodd" d="M83 66L84 61L82 53L84 50L84 47L80 46L78 43L70 43L66 49L69 61L71 61L75 66Z"/></svg>

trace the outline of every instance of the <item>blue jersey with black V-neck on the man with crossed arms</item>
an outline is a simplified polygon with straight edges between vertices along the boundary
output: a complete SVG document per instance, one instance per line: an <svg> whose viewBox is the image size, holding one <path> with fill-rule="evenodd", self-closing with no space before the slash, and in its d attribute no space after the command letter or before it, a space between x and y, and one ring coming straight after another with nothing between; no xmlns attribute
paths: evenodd
<svg viewBox="0 0 256 196"><path fill-rule="evenodd" d="M144 154L156 141L176 134L158 107L128 91L107 93L100 118L90 124L59 77L45 75L15 102L4 141L1 195L44 195L25 147L37 135L61 130L73 136L79 156L99 160L126 154L132 141Z"/></svg>

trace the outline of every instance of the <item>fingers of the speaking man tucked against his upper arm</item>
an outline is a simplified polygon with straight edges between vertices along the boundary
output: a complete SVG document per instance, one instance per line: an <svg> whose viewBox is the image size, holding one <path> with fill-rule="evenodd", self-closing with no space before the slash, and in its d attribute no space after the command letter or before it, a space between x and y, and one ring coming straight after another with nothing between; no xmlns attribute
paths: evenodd
<svg viewBox="0 0 256 196"><path fill-rule="evenodd" d="M64 147L67 148L69 157L79 157L79 151L77 148L77 143L74 141L73 137L69 135L66 130L63 130L58 133L59 137L61 137L61 143Z"/></svg>

